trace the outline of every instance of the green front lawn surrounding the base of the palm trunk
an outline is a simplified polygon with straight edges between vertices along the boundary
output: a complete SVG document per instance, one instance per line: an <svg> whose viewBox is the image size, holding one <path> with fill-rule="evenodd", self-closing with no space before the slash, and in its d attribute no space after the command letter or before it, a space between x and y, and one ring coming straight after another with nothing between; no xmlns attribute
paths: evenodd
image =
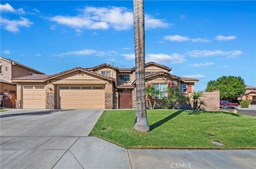
<svg viewBox="0 0 256 169"><path fill-rule="evenodd" d="M190 110L148 110L147 116L151 131L143 133L133 129L135 110L104 111L90 136L129 149L256 148L255 117Z"/></svg>

